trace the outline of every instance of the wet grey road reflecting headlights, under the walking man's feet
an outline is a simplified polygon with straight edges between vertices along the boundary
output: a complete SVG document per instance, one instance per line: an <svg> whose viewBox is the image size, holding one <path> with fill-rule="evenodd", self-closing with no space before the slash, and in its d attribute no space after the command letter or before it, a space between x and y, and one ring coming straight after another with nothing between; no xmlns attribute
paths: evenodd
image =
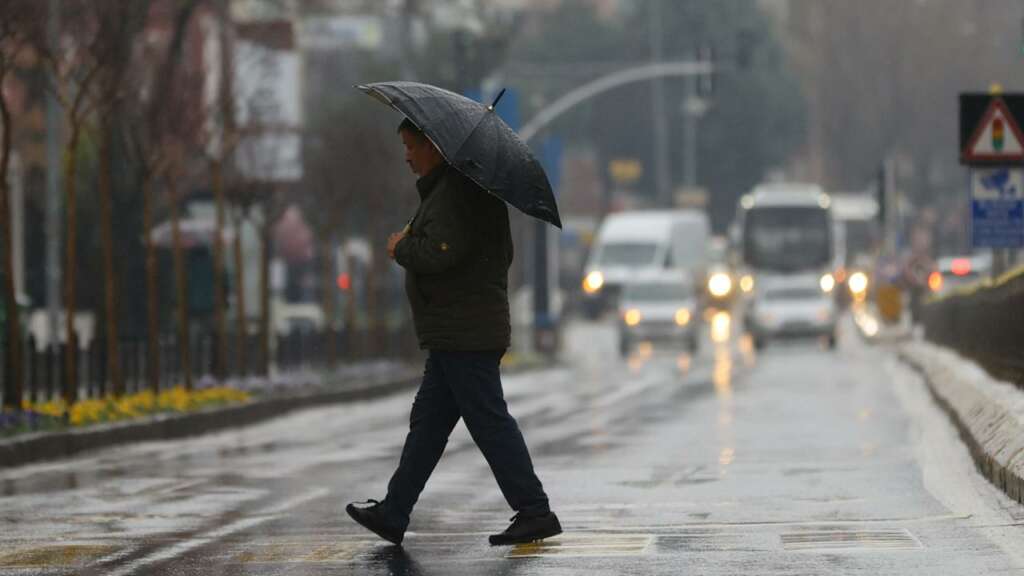
<svg viewBox="0 0 1024 576"><path fill-rule="evenodd" d="M693 357L580 324L564 368L506 377L566 531L542 544L486 544L511 511L461 424L402 548L348 520L408 393L0 471L0 575L1024 574L1024 509L889 353L707 320Z"/></svg>

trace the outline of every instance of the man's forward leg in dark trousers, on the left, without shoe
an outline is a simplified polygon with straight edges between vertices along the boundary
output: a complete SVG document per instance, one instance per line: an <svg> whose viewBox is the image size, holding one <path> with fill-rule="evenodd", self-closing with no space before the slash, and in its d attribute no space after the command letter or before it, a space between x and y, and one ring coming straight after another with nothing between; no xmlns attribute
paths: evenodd
<svg viewBox="0 0 1024 576"><path fill-rule="evenodd" d="M430 353L427 357L423 381L413 402L401 460L391 476L384 499L389 515L402 528L409 525L409 515L459 421L459 407L445 381L443 366L434 356L435 353Z"/></svg>

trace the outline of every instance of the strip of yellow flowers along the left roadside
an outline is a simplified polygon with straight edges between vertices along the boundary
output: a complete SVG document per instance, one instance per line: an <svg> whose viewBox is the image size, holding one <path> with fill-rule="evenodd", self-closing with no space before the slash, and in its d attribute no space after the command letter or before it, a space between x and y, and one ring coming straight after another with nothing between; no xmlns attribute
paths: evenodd
<svg viewBox="0 0 1024 576"><path fill-rule="evenodd" d="M182 386L177 386L162 390L159 395L146 390L121 398L106 397L83 400L72 405L70 411L62 400L43 404L25 401L22 408L54 418L59 418L67 412L71 424L81 426L96 422L128 420L158 412L190 412L208 406L241 404L249 400L248 393L234 388L214 387L186 390Z"/></svg>

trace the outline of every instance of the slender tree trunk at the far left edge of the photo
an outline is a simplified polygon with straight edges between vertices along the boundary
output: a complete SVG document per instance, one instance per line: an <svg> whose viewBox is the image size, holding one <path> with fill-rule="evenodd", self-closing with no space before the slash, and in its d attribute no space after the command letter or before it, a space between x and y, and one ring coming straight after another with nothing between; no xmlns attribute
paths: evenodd
<svg viewBox="0 0 1024 576"><path fill-rule="evenodd" d="M3 76L0 75L0 80ZM2 84L2 82L0 82ZM7 323L7 362L10 364L9 378L3 390L3 406L7 409L22 408L22 330L17 312L17 293L14 289L14 238L11 234L11 214L8 202L8 171L10 169L11 118L7 102L0 94L0 118L3 122L3 141L0 142L0 228L3 229L3 277L4 307Z"/></svg>

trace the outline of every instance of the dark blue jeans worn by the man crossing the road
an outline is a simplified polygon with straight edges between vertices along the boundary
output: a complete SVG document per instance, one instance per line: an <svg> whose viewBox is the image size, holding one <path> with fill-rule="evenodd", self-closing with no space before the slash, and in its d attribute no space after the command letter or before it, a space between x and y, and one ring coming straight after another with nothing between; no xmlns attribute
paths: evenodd
<svg viewBox="0 0 1024 576"><path fill-rule="evenodd" d="M548 496L534 472L526 443L502 392L504 352L431 351L413 402L409 436L384 500L400 526L409 516L449 436L461 417L483 452L509 506L523 515L549 511Z"/></svg>

